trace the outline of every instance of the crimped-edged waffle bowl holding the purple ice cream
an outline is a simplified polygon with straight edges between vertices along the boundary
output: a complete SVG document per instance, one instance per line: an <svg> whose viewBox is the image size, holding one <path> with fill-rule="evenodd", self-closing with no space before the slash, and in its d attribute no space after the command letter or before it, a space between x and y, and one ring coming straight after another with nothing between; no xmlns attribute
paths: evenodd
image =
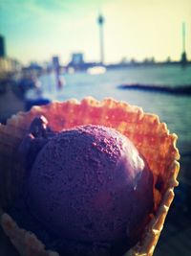
<svg viewBox="0 0 191 256"><path fill-rule="evenodd" d="M157 115L146 114L138 106L113 99L99 102L92 97L81 102L69 100L64 103L33 106L29 112L19 112L12 116L6 126L0 126L0 223L19 254L58 255L46 250L35 234L20 228L6 213L6 209L19 195L25 173L17 149L33 118L40 115L44 115L49 126L56 131L87 124L102 125L116 128L132 140L146 158L154 175L155 212L150 215L141 240L125 256L153 255L174 198L174 187L178 185L180 166L177 160L180 155L176 148L177 136L169 134L166 125L159 122Z"/></svg>

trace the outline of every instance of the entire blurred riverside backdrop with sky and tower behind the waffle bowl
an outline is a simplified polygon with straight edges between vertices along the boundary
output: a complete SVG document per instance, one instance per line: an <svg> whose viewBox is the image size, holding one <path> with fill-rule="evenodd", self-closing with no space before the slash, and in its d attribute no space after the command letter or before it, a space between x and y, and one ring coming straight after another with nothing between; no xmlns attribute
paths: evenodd
<svg viewBox="0 0 191 256"><path fill-rule="evenodd" d="M154 255L190 255L191 1L1 0L0 122L89 95L157 113L178 134L180 186Z"/></svg>

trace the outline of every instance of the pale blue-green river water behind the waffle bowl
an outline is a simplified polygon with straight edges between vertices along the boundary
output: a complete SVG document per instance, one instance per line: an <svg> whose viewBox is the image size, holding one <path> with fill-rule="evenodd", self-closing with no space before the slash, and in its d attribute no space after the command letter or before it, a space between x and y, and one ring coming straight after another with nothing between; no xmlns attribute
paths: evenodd
<svg viewBox="0 0 191 256"><path fill-rule="evenodd" d="M179 143L191 144L191 97L142 90L122 90L124 83L153 84L161 86L188 86L191 84L191 65L139 66L109 69L104 74L90 75L86 72L63 75L65 85L57 89L53 75L40 78L44 96L51 100L81 100L93 96L97 100L112 97L119 101L138 105L145 112L156 113L170 132L178 134Z"/></svg>

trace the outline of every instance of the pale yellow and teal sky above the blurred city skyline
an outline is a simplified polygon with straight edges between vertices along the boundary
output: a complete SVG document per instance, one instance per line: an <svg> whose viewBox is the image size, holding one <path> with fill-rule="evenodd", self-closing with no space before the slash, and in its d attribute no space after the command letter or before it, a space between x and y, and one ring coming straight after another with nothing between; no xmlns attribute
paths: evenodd
<svg viewBox="0 0 191 256"><path fill-rule="evenodd" d="M106 62L179 59L182 22L191 59L191 0L1 0L0 34L8 56L23 63L53 55L66 63L73 52L98 61L100 11Z"/></svg>

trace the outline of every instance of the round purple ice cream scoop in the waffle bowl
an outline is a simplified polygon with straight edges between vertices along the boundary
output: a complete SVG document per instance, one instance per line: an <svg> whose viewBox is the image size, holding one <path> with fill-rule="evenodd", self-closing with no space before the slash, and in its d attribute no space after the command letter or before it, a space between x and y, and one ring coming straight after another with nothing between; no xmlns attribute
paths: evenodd
<svg viewBox="0 0 191 256"><path fill-rule="evenodd" d="M40 124L47 133L31 132L21 147L29 158L38 145L25 184L32 215L73 241L136 241L153 208L153 175L133 143L114 128L53 133Z"/></svg>

